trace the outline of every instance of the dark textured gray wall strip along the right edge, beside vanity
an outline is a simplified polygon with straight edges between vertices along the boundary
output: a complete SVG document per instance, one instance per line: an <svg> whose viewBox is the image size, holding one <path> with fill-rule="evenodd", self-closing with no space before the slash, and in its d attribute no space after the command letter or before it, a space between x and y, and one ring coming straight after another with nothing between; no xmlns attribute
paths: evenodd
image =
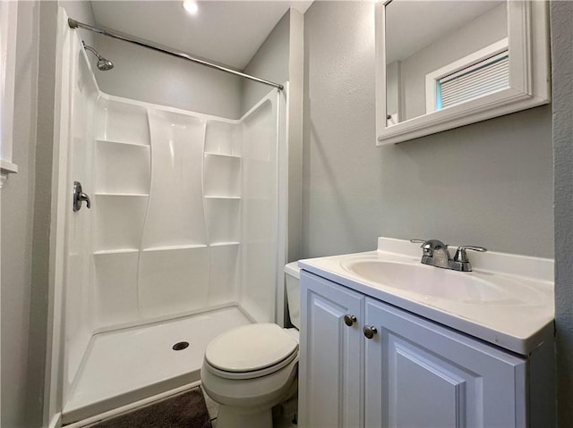
<svg viewBox="0 0 573 428"><path fill-rule="evenodd" d="M573 3L552 2L555 317L560 426L573 426Z"/></svg>

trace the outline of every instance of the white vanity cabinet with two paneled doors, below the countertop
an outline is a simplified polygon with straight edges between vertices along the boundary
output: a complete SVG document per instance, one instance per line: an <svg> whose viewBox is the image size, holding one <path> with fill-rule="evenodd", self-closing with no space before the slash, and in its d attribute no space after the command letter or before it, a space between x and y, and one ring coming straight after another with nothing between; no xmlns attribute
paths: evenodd
<svg viewBox="0 0 573 428"><path fill-rule="evenodd" d="M301 287L301 427L551 426L528 416L526 357L306 271Z"/></svg>

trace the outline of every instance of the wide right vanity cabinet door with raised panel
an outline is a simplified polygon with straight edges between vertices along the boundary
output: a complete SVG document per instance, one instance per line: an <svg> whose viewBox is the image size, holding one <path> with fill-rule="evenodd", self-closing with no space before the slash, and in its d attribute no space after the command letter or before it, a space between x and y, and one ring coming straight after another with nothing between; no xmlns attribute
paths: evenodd
<svg viewBox="0 0 573 428"><path fill-rule="evenodd" d="M526 362L366 299L365 426L526 426Z"/></svg>

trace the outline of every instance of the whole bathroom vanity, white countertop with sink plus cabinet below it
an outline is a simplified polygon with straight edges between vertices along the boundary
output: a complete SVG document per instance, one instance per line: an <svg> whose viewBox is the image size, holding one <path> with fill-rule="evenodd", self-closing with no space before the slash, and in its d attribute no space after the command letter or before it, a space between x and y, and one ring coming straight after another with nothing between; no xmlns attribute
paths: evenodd
<svg viewBox="0 0 573 428"><path fill-rule="evenodd" d="M554 426L552 261L419 252L300 262L300 426Z"/></svg>

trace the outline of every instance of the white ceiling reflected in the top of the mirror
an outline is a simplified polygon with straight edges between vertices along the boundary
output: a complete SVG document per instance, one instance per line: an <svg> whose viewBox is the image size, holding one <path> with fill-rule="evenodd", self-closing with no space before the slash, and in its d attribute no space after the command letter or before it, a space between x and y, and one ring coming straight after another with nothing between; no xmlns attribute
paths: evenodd
<svg viewBox="0 0 573 428"><path fill-rule="evenodd" d="M386 6L387 63L415 54L501 4L506 1L393 0Z"/></svg>

